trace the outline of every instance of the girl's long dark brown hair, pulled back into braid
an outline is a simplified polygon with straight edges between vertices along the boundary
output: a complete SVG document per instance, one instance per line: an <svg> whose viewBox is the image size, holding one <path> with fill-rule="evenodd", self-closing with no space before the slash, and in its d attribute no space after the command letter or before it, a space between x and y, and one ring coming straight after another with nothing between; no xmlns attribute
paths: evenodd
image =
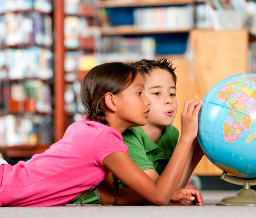
<svg viewBox="0 0 256 218"><path fill-rule="evenodd" d="M105 94L119 94L134 81L136 75L135 67L121 62L101 64L92 68L84 77L80 91L87 119L109 126L102 108Z"/></svg>

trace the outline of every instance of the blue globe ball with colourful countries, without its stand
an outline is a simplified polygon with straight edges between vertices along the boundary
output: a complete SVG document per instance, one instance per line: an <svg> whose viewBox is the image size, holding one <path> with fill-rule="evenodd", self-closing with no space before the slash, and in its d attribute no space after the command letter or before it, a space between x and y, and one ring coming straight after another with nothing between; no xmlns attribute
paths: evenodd
<svg viewBox="0 0 256 218"><path fill-rule="evenodd" d="M256 177L256 74L228 77L206 94L197 139L218 168Z"/></svg>

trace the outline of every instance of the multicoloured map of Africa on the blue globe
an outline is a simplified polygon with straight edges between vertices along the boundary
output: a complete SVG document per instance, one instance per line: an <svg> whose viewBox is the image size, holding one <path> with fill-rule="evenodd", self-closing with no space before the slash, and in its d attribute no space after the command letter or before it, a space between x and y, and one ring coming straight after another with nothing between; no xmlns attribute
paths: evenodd
<svg viewBox="0 0 256 218"><path fill-rule="evenodd" d="M228 117L224 122L224 140L227 142L233 142L243 133L248 133L250 124L256 119L256 91L248 87L248 81L255 85L256 77L238 78L221 87L217 93L219 101L228 103ZM247 141L254 137L249 136Z"/></svg>

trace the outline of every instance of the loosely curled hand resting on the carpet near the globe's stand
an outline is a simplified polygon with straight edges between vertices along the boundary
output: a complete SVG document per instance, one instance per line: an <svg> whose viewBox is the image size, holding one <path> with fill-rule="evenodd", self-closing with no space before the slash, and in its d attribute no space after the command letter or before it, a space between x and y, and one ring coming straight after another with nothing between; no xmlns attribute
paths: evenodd
<svg viewBox="0 0 256 218"><path fill-rule="evenodd" d="M176 189L173 193L171 201L168 205L197 205L201 206L203 203L203 197L199 190L196 189Z"/></svg>

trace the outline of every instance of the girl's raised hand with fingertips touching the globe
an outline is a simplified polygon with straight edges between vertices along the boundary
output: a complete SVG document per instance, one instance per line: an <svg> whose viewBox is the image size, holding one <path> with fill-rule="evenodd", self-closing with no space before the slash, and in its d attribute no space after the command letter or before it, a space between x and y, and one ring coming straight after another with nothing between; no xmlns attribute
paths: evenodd
<svg viewBox="0 0 256 218"><path fill-rule="evenodd" d="M198 115L202 101L190 99L184 103L181 117L181 136L194 140L198 131Z"/></svg>

